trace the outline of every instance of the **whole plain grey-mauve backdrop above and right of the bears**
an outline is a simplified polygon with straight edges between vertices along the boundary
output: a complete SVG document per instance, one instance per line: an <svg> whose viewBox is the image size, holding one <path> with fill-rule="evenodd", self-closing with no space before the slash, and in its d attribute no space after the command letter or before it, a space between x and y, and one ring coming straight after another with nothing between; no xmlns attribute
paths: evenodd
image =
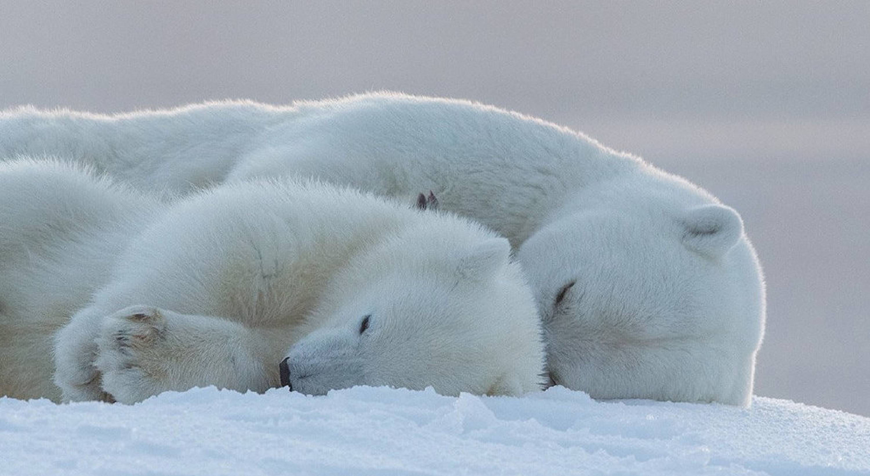
<svg viewBox="0 0 870 476"><path fill-rule="evenodd" d="M870 2L15 2L0 109L395 89L578 129L737 208L755 393L870 416Z"/></svg>

